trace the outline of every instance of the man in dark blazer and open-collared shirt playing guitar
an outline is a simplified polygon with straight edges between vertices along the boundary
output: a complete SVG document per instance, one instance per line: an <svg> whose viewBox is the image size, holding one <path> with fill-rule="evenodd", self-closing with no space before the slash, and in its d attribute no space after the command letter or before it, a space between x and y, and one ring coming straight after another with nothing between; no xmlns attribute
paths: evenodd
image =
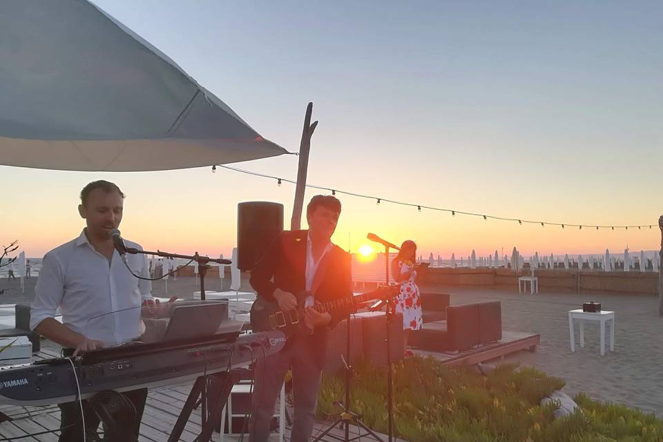
<svg viewBox="0 0 663 442"><path fill-rule="evenodd" d="M280 233L251 270L251 286L258 297L278 302L284 312L298 307L295 294L311 294L305 303L310 332L291 336L284 349L273 356L260 358L258 354L251 442L269 439L276 397L288 369L292 369L294 394L290 440L305 442L311 438L329 330L348 314L347 310L319 313L311 307L315 302L352 296L349 253L331 242L339 215L340 201L330 195L314 196L306 211L309 230Z"/></svg>

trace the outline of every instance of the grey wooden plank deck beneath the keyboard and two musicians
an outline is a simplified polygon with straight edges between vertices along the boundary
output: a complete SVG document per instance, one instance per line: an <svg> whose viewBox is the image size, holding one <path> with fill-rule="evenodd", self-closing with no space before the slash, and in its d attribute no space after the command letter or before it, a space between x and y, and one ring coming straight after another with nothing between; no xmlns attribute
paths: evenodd
<svg viewBox="0 0 663 442"><path fill-rule="evenodd" d="M59 355L53 352L39 352L35 355L35 359L54 358ZM161 442L166 441L171 433L177 416L182 410L184 401L189 395L193 382L184 383L180 385L168 385L165 387L151 388L148 391L145 410L143 412L143 419L140 425L140 442ZM48 405L47 407L19 407L15 405L0 405L0 412L9 416L12 421L0 423L0 441L5 438L21 437L18 441L41 441L41 442L56 442L59 432L50 432L46 434L39 434L35 436L27 436L28 434L35 434L49 430L56 430L60 425L60 410L57 405ZM289 410L292 416L292 410ZM321 434L327 428L328 423L318 422L314 427L314 436ZM200 410L195 410L191 414L189 422L186 424L180 441L193 442L200 432ZM357 427L350 427L351 438L357 436ZM345 433L338 428L335 428L331 435L336 436L343 440ZM387 436L379 434L384 441L387 441ZM325 436L323 441L332 442L338 441L333 436ZM369 436L362 432L362 439L366 441L372 440ZM213 441L220 441L220 434L213 433ZM244 435L244 441L248 440L248 434ZM270 442L278 441L278 433L272 433ZM286 425L285 441L290 440L290 428ZM405 442L401 439L394 439L396 442ZM236 442L240 441L240 436L224 436L224 441Z"/></svg>

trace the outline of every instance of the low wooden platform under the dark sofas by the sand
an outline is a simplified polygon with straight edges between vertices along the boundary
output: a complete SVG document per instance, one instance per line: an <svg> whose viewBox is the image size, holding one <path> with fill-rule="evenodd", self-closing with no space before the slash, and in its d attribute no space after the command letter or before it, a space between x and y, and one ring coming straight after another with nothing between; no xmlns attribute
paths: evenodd
<svg viewBox="0 0 663 442"><path fill-rule="evenodd" d="M502 331L502 338L496 343L482 345L461 352L427 352L414 349L414 353L421 356L432 356L444 365L472 365L501 358L507 354L528 350L534 352L536 346L541 342L538 334Z"/></svg>

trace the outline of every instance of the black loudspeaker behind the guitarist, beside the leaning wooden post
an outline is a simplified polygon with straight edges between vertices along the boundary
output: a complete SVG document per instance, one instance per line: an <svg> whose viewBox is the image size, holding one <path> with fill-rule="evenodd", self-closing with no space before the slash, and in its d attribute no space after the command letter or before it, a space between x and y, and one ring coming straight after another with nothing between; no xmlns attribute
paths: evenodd
<svg viewBox="0 0 663 442"><path fill-rule="evenodd" d="M237 267L251 270L267 246L283 231L283 204L250 201L237 204Z"/></svg>

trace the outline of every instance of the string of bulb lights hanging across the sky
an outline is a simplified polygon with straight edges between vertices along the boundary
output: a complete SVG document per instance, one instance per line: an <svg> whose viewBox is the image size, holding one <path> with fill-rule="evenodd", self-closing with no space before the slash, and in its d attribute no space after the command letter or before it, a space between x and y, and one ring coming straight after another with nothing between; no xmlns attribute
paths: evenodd
<svg viewBox="0 0 663 442"><path fill-rule="evenodd" d="M281 182L289 182L290 184L297 184L296 181L294 180L288 180L287 178L281 178L281 177L276 177L272 175L265 175L264 173L257 173L257 172L252 172L252 171L247 171L245 169L238 169L237 167L231 167L231 166L225 166L223 164L217 164L216 166L222 167L224 169L228 169L230 171L235 171L239 173L245 173L247 175L253 175L257 177L262 177L262 178L269 178L271 180L277 180L277 183L280 184ZM460 210L455 210L455 209L445 209L441 207L434 207L434 206L425 206L423 204L415 204L412 202L403 202L403 201L398 201L398 200L390 200L387 198L382 198L378 196L373 196L373 195L364 195L362 193L356 193L356 192L350 192L350 191L340 191L338 189L334 189L332 187L325 187L325 186L316 186L314 184L305 184L306 187L309 187L310 189L318 189L318 190L323 190L323 191L330 191L332 192L332 195L336 195L336 193L342 193L343 195L350 195L354 196L357 198L366 198L369 200L375 200L377 204L380 204L381 202L390 202L392 204L399 204L401 206L410 206L416 208L418 211L421 211L421 209L429 209L433 211L440 211L440 212L447 212L451 213L453 216L455 216L457 213L460 215L468 215L468 216L478 216L483 218L484 220L488 220L489 218L492 220L500 220L500 221L515 221L518 222L518 224L541 224L541 227L544 227L546 224L550 226L558 226L564 229L565 227L578 227L579 230L582 230L583 227L591 227L595 229L625 229L628 230L629 227L631 229L638 229L642 230L642 228L648 227L649 229L652 228L654 224L639 224L639 225L623 225L623 226L613 226L613 225L603 225L603 224L568 224L566 222L549 222L549 221L535 221L535 220L524 220L523 218L510 218L510 217L504 217L504 216L497 216L497 215L487 215L486 213L475 213L475 212L468 212L468 211L460 211Z"/></svg>

